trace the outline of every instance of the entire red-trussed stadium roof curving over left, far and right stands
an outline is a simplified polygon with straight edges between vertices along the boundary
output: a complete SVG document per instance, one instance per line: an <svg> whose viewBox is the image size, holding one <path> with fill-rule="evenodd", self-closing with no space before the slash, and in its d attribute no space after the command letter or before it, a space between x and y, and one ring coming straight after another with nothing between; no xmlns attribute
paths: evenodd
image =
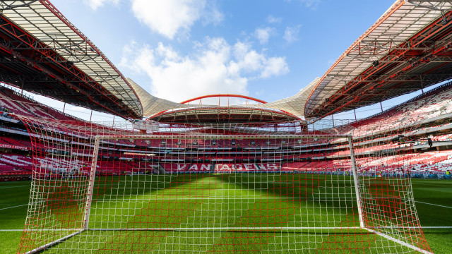
<svg viewBox="0 0 452 254"><path fill-rule="evenodd" d="M0 8L2 82L125 118L164 119L169 114L208 118L220 112L213 110L220 109L218 105L154 97L124 78L49 0L4 0ZM398 0L321 78L297 95L232 105L229 112L272 111L271 117L274 113L315 120L448 80L452 76L451 8L451 1Z"/></svg>

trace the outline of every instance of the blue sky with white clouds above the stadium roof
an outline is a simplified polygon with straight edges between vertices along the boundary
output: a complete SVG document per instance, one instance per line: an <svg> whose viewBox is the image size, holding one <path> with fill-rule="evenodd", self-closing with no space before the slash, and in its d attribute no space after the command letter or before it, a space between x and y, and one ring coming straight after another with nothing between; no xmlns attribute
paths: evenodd
<svg viewBox="0 0 452 254"><path fill-rule="evenodd" d="M295 95L323 75L393 0L52 3L126 77L157 97L180 102L234 93L272 102ZM383 102L383 107L391 104ZM66 110L89 118L88 110ZM368 115L363 110L367 113L359 116Z"/></svg>

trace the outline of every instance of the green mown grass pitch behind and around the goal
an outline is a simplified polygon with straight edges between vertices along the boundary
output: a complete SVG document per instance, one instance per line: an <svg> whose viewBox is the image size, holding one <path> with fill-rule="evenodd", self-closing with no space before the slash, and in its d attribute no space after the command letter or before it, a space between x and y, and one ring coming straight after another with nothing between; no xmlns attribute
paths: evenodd
<svg viewBox="0 0 452 254"><path fill-rule="evenodd" d="M191 226L211 229L243 227L279 227L297 226L300 220L316 220L324 222L321 226L338 226L338 222L348 222L347 226L357 226L356 218L347 218L353 213L353 193L348 188L321 188L321 179L325 176L314 176L306 181L304 175L268 175L268 174L211 174L211 175L179 175L179 176L122 176L126 181L117 178L101 178L95 189L96 202L90 217L90 228L189 228ZM135 177L130 181L131 177ZM313 179L319 181L312 181ZM302 188L285 188L295 182ZM349 178L350 179L350 178ZM150 184L152 182L152 184ZM340 184L351 186L347 179ZM452 181L412 179L417 212L422 226L452 226ZM297 214L299 200L292 200L294 194L310 195L309 190L338 198L329 201L329 207L345 207L335 211L339 214L331 219L309 208L303 214ZM307 191L308 190L308 191ZM344 191L345 190L345 191ZM323 193L322 193L323 191ZM331 192L332 191L332 192ZM263 193L267 200L259 201ZM301 193L301 194L300 194ZM158 195L154 195L158 194ZM16 253L21 230L25 223L30 195L30 181L0 183L0 252ZM281 196L285 197L281 202ZM272 198L275 202L272 202ZM178 200L179 199L179 200ZM146 200L146 202L143 202ZM126 202L124 202L126 201ZM150 202L149 202L150 201ZM342 202L340 204L335 202ZM112 209L114 204L114 209ZM277 208L277 209L275 209ZM311 209L311 210L309 210ZM333 208L328 208L331 209ZM334 209L333 209L334 210ZM187 219L186 214L190 214ZM241 216L237 216L240 214ZM289 216L288 216L289 215ZM323 216L323 217L322 217ZM311 218L309 218L311 217ZM329 222L329 223L328 223ZM312 225L314 226L314 225ZM317 224L316 226L319 226ZM343 226L343 225L342 225ZM75 236L59 248L66 248L65 253L85 253L79 251L88 243L94 243L93 249L109 253L115 248L126 248L125 253L141 253L139 250L153 249L153 253L174 253L190 250L193 253L225 252L227 250L254 250L252 253L294 253L295 248L308 248L304 253L331 253L338 248L357 250L359 253L371 253L368 241L379 240L374 234L362 234L356 229L342 230L340 234L333 229L316 229L302 231L243 230L243 231L88 231ZM451 253L452 228L427 228L424 234L434 253ZM305 243L296 243L295 237ZM246 242L244 239L246 238ZM344 241L344 238L347 241ZM149 240L153 243L149 243ZM83 242L82 246L79 242ZM334 242L341 242L339 245ZM166 243L166 244L159 244ZM246 244L244 244L246 243ZM302 246L299 246L302 245ZM194 251L194 246L197 251ZM388 248L400 248L397 246ZM369 252L363 251L369 250ZM50 250L54 253L58 248ZM275 251L272 251L275 250ZM101 251L101 252L102 252ZM166 251L166 252L165 252ZM389 250L388 250L389 251ZM406 251L401 248L400 251ZM379 250L384 253L385 250ZM47 252L46 252L47 253ZM61 249L58 253L63 253ZM117 252L116 252L117 253Z"/></svg>

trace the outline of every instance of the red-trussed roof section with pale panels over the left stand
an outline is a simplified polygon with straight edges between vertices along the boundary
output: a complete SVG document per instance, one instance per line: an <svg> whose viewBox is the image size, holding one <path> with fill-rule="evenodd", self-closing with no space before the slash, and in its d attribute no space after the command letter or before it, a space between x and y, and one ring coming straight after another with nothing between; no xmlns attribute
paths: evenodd
<svg viewBox="0 0 452 254"><path fill-rule="evenodd" d="M117 68L49 1L0 1L0 81L125 118L141 102Z"/></svg>

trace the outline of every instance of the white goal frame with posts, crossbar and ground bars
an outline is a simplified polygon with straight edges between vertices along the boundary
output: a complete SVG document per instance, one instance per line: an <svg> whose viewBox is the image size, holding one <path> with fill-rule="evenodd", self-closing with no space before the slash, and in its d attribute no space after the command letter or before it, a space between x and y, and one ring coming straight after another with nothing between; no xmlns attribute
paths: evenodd
<svg viewBox="0 0 452 254"><path fill-rule="evenodd" d="M76 236L78 234L81 234L83 231L146 231L146 230L153 230L158 231L159 229L90 229L89 223L90 223L90 210L92 207L93 202L93 191L95 189L95 176L96 176L96 169L97 169L97 158L99 155L100 150L100 141L101 140L129 140L129 139L178 139L178 140L191 140L191 139L210 139L210 140L227 140L227 139L284 139L284 138L293 138L293 139L314 139L314 138L321 138L321 139L330 139L330 138L342 138L346 139L348 143L348 149L350 150L350 166L352 169L352 176L353 176L353 185L355 187L355 198L357 203L357 212L358 212L358 218L359 218L359 226L349 226L349 227L343 227L343 229L364 229L366 231L371 232L372 234L377 234L379 236L382 236L383 238L386 238L390 241L393 241L395 243L399 243L402 246L408 247L412 250L415 250L420 253L424 254L431 254L431 252L427 250L423 250L422 248L419 248L417 246L413 246L409 243L405 243L403 241L400 241L396 238L393 238L391 236L388 236L386 234L383 234L379 231L377 231L375 228L371 229L366 226L364 222L364 215L363 215L363 208L362 208L362 197L359 187L359 175L357 170L357 162L355 159L355 149L354 149L354 143L352 135L304 135L304 134L287 134L287 135L95 135L94 137L94 147L93 147L93 159L90 165L90 176L88 180L88 191L87 191L87 197L85 200L85 209L83 213L83 227L79 229L76 232L73 232L72 234L69 234L67 236L64 236L62 238L59 238L55 241L52 241L51 243L46 243L43 246L40 246L38 248L35 248L34 250L30 250L26 252L26 254L32 254L37 253L41 250L44 250L46 248L52 247L57 245L58 243L61 243L63 241L66 241L69 238L72 238L73 236ZM221 228L224 229L224 228ZM266 228L247 228L247 229L266 229ZM269 228L270 229L270 228ZM280 227L278 228L280 229ZM289 229L289 228L287 228ZM296 228L290 228L290 229L333 229L328 227L318 227L318 226L309 226L309 227L296 227ZM160 229L162 231L168 231L168 230L174 230L177 231L178 229ZM179 229L179 230L188 230L188 229ZM206 228L205 230L215 230L215 228ZM226 229L228 230L228 229Z"/></svg>

